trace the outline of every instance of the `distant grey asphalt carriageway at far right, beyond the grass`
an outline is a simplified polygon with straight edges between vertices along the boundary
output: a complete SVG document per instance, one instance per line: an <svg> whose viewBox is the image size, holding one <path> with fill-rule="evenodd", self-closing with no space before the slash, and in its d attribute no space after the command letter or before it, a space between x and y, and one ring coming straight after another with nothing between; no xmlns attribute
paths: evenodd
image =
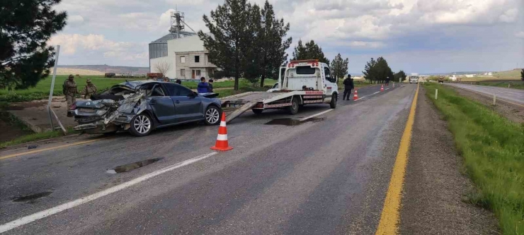
<svg viewBox="0 0 524 235"><path fill-rule="evenodd" d="M524 104L524 90L513 89L513 88L499 88L491 87L487 85L467 85L457 83L445 83L457 88L464 88L466 90L472 90L474 92L480 92L484 95L493 96L509 102L516 102L517 104Z"/></svg>

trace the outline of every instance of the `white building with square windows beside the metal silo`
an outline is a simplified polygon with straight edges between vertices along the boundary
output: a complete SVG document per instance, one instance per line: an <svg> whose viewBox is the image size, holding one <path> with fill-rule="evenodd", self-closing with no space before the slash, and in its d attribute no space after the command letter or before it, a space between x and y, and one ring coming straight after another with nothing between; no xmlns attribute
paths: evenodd
<svg viewBox="0 0 524 235"><path fill-rule="evenodd" d="M149 71L159 73L156 64L164 62L171 64L171 69L164 74L169 78L212 78L217 70L217 66L209 62L209 52L198 35L167 40L167 56L149 59Z"/></svg>

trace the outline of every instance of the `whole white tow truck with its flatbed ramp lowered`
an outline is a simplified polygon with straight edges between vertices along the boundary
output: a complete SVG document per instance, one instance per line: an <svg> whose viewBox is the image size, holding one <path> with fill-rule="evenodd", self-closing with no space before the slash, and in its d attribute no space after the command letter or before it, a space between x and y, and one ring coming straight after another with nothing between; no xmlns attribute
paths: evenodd
<svg viewBox="0 0 524 235"><path fill-rule="evenodd" d="M251 109L261 114L264 109L287 109L297 114L304 104L329 104L336 108L338 85L329 66L317 59L290 61L280 67L278 85L269 92L245 92L226 97L222 107L237 108L227 116L227 122Z"/></svg>

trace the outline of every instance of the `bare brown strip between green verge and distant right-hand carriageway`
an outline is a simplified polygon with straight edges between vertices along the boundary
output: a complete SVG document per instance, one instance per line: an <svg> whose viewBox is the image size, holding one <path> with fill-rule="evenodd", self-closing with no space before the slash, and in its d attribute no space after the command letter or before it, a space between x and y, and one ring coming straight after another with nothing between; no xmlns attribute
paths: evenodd
<svg viewBox="0 0 524 235"><path fill-rule="evenodd" d="M511 121L515 121L517 123L524 123L524 107L508 102L503 102L501 100L497 100L496 105L493 106L493 97L479 95L475 92L470 92L468 90L454 88L451 86L448 86L448 88L455 90L459 95L468 97L481 104L485 104L487 107L491 107L491 109L501 116L506 117L506 119L510 119Z"/></svg>

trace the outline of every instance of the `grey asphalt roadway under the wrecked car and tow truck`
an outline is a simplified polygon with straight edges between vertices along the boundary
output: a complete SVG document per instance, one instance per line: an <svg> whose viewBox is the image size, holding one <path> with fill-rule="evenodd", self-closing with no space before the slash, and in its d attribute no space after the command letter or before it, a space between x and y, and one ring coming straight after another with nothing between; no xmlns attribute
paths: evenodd
<svg viewBox="0 0 524 235"><path fill-rule="evenodd" d="M0 224L51 209L6 234L373 234L416 85L379 89L297 126L266 123L329 106L246 112L227 126L234 150L214 155L217 126L190 124L1 159ZM161 159L106 173L152 158ZM13 201L33 193L42 197Z"/></svg>

